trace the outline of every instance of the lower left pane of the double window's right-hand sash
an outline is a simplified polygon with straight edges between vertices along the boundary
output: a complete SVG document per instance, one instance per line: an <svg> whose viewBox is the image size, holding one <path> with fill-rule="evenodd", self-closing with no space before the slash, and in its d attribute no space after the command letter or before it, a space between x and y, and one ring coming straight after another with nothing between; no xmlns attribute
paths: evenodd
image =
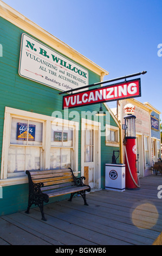
<svg viewBox="0 0 162 256"><path fill-rule="evenodd" d="M50 169L61 168L61 149L51 148L50 149Z"/></svg>

